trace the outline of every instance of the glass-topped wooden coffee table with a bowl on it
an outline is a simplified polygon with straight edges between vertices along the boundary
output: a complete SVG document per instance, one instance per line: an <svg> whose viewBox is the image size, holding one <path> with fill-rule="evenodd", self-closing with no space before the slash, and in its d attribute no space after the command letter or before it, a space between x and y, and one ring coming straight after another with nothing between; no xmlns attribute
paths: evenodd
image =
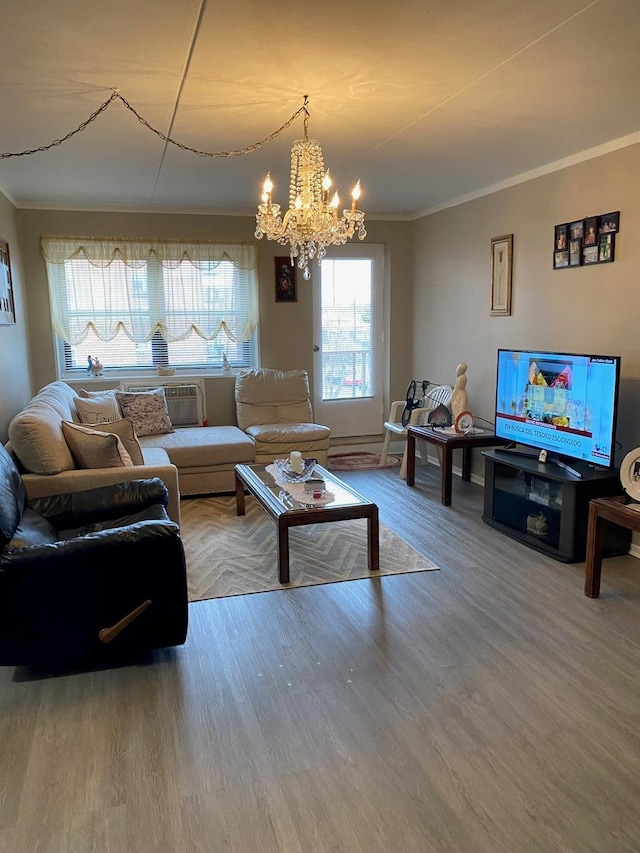
<svg viewBox="0 0 640 853"><path fill-rule="evenodd" d="M276 523L278 529L278 578L280 583L289 583L289 528L305 524L325 524L329 521L348 521L353 518L367 519L367 558L370 572L377 572L380 565L378 541L378 507L343 483L330 471L316 465L314 477L322 477L333 499L326 504L310 505L296 500L286 491L287 485L279 485L266 465L236 465L236 512L245 514L244 493L249 491L262 509ZM299 494L298 489L292 489Z"/></svg>

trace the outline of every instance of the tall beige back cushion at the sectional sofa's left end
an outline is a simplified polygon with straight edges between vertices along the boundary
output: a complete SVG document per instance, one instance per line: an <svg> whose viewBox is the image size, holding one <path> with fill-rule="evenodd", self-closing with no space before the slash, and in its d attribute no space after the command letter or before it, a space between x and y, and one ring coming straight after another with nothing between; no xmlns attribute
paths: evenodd
<svg viewBox="0 0 640 853"><path fill-rule="evenodd" d="M62 421L77 418L74 397L66 382L51 382L9 424L11 449L27 471L59 474L76 467L62 434Z"/></svg>

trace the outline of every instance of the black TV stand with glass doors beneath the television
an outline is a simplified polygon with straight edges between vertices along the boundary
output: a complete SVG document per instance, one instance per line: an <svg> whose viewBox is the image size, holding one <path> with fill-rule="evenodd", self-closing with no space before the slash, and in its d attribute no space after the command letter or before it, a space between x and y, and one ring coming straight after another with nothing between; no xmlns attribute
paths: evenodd
<svg viewBox="0 0 640 853"><path fill-rule="evenodd" d="M580 476L559 465L505 450L485 457L483 521L565 563L585 559L589 501L622 494L617 470L580 467ZM630 533L610 525L604 554L625 554Z"/></svg>

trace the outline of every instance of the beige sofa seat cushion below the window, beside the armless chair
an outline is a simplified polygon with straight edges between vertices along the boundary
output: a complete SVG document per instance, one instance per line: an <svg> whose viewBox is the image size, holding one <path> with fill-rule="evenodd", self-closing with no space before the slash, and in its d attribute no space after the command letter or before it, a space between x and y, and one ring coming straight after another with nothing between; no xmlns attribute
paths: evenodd
<svg viewBox="0 0 640 853"><path fill-rule="evenodd" d="M146 455L150 447L163 447L171 462L182 468L211 468L253 462L253 441L236 426L185 427L170 435L149 435L140 440Z"/></svg>

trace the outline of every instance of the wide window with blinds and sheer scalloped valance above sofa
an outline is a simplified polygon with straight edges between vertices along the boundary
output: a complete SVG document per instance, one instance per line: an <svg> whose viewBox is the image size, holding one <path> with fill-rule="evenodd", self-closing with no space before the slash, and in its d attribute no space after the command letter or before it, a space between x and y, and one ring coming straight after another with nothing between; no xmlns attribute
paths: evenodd
<svg viewBox="0 0 640 853"><path fill-rule="evenodd" d="M255 247L44 238L58 373L256 366Z"/></svg>

